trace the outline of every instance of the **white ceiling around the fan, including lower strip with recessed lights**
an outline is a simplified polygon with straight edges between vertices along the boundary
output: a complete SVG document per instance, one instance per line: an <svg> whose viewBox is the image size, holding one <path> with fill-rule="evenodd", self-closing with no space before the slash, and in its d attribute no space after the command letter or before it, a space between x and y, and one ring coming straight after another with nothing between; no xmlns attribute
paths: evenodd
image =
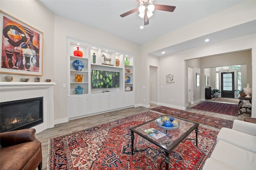
<svg viewBox="0 0 256 170"><path fill-rule="evenodd" d="M130 14L124 18L120 14L138 8L136 0L39 0L49 10L59 16L78 21L95 29L116 35L127 41L143 44L184 27L190 23L206 18L212 14L230 8L243 0L155 0L154 4L176 6L174 12L155 10L149 19L149 25L144 25L139 12ZM238 35L247 35L256 32L256 22L240 25L231 30L223 30L214 35L209 35L210 43L222 41ZM244 26L252 29L244 31ZM191 47L204 45L203 37L155 51L151 55L162 56Z"/></svg>

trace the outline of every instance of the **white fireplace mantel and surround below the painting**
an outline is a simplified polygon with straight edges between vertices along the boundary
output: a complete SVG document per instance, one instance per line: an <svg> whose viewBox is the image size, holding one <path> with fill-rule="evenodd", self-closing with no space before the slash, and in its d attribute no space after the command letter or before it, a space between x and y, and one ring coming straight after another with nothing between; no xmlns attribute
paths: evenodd
<svg viewBox="0 0 256 170"><path fill-rule="evenodd" d="M54 82L0 82L0 102L44 97L44 123L35 127L36 133L54 127Z"/></svg>

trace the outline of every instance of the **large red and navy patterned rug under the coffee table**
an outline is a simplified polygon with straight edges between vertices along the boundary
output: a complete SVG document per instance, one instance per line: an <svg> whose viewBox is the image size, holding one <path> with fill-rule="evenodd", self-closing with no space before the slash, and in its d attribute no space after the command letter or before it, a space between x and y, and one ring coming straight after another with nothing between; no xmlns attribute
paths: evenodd
<svg viewBox="0 0 256 170"><path fill-rule="evenodd" d="M49 141L49 170L160 170L158 147L135 134L134 147L148 149L131 155L130 127L161 116L147 111ZM218 131L198 127L198 148L186 140L170 153L170 170L200 170L212 153ZM187 138L195 138L192 132ZM164 166L164 165L163 165ZM161 167L163 169L164 167Z"/></svg>

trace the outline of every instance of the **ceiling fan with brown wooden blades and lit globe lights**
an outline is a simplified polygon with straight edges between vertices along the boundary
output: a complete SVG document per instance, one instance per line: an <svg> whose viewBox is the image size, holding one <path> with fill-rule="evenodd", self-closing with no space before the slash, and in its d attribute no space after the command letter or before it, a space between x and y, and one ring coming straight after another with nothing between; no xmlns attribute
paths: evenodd
<svg viewBox="0 0 256 170"><path fill-rule="evenodd" d="M161 11L167 11L167 12L173 12L176 8L176 6L169 6L169 5L160 5L160 4L153 4L154 0L136 0L140 3L140 6L138 8L135 8L133 10L130 10L124 14L121 14L120 17L128 16L134 12L139 11L139 16L141 18L144 18L144 25L149 24L148 18L150 18L153 15L154 10L161 10Z"/></svg>

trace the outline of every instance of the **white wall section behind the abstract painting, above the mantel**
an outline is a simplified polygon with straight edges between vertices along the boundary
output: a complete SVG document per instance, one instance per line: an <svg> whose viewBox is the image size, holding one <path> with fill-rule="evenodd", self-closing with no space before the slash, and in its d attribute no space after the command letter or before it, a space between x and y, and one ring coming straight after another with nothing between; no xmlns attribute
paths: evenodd
<svg viewBox="0 0 256 170"><path fill-rule="evenodd" d="M37 0L0 0L0 10L44 33L43 76L40 81L52 79L54 82L54 14ZM1 73L0 81L5 81L6 75ZM20 82L20 78L30 78L29 82L34 82L36 77L20 74L12 76L14 82Z"/></svg>

